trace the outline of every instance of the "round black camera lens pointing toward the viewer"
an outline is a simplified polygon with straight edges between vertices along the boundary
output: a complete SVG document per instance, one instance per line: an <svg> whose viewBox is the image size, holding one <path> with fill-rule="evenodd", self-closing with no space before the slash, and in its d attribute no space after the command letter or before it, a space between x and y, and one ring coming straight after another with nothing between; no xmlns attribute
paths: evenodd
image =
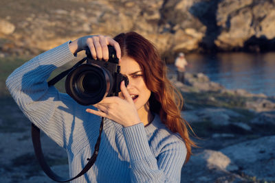
<svg viewBox="0 0 275 183"><path fill-rule="evenodd" d="M93 105L106 97L113 80L109 71L93 64L83 64L71 71L65 88L69 96L83 106Z"/></svg>

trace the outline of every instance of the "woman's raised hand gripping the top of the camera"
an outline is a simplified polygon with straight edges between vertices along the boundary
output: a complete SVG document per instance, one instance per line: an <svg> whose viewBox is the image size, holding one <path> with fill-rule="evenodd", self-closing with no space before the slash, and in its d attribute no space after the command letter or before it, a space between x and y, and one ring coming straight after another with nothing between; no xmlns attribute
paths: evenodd
<svg viewBox="0 0 275 183"><path fill-rule="evenodd" d="M108 60L109 51L107 45L111 45L115 48L116 56L121 58L120 45L109 36L95 35L84 36L69 43L69 49L73 54L79 51L85 50L89 47L91 56L96 60Z"/></svg>

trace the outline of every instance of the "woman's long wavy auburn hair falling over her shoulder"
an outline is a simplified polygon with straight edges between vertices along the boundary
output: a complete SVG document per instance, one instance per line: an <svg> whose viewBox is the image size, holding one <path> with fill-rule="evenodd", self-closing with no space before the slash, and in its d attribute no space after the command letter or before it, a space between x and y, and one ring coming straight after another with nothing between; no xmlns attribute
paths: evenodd
<svg viewBox="0 0 275 183"><path fill-rule="evenodd" d="M122 57L133 58L141 67L144 82L151 96L149 109L159 114L162 123L172 132L177 132L183 138L186 149L187 162L192 154L191 147L196 147L189 138L188 128L192 130L187 121L181 118L181 108L184 99L181 93L170 83L166 77L166 64L162 61L155 46L146 38L136 32L127 32L115 36L121 49Z"/></svg>

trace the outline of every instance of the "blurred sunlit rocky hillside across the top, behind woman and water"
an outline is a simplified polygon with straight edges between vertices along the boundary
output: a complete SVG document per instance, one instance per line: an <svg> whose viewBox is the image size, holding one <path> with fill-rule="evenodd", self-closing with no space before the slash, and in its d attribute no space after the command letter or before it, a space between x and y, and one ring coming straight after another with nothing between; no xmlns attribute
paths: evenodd
<svg viewBox="0 0 275 183"><path fill-rule="evenodd" d="M274 0L0 1L1 57L132 30L168 58L178 51L270 51L274 29Z"/></svg>

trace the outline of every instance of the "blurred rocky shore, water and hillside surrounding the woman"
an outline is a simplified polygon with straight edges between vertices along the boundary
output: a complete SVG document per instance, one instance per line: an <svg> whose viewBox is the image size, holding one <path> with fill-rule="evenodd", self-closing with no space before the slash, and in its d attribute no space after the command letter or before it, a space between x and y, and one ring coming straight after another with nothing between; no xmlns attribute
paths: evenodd
<svg viewBox="0 0 275 183"><path fill-rule="evenodd" d="M200 137L181 182L275 182L274 0L0 0L0 182L52 182L36 163L8 75L67 40L129 31L155 44ZM184 84L173 65L180 52ZM65 152L43 141L52 167L66 174Z"/></svg>

